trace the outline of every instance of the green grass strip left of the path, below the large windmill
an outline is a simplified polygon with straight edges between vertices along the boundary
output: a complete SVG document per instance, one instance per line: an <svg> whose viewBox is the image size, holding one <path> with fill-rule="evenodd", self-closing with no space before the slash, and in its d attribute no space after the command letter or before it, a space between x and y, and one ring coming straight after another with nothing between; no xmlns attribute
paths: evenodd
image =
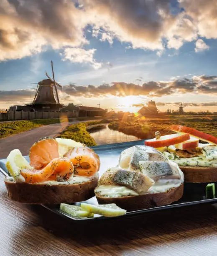
<svg viewBox="0 0 217 256"><path fill-rule="evenodd" d="M94 118L69 118L69 121L88 120ZM0 138L4 138L10 135L18 134L24 131L31 130L33 128L40 127L42 125L49 125L53 123L59 123L60 119L40 119L40 120L20 120L14 122L0 122Z"/></svg>

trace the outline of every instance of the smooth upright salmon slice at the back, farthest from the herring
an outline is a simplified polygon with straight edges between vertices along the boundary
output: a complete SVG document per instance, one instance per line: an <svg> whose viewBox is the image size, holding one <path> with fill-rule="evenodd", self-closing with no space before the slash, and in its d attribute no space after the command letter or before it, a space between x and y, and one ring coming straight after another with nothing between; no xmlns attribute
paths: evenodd
<svg viewBox="0 0 217 256"><path fill-rule="evenodd" d="M58 142L53 138L43 138L33 144L29 152L30 165L43 169L51 160L59 157Z"/></svg>

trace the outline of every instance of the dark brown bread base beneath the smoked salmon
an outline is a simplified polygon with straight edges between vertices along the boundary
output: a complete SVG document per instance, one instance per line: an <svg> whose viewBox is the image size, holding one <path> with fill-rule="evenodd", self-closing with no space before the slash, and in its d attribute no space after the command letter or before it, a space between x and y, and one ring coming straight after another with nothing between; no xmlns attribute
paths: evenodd
<svg viewBox="0 0 217 256"><path fill-rule="evenodd" d="M63 185L10 182L5 178L8 197L13 201L28 204L56 205L85 201L94 197L97 183L97 177L88 182Z"/></svg>

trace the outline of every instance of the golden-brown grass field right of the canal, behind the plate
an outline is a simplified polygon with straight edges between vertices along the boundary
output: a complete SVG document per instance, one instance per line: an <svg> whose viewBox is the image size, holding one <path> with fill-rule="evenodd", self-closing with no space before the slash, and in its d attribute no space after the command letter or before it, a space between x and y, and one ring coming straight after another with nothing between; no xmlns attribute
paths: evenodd
<svg viewBox="0 0 217 256"><path fill-rule="evenodd" d="M109 128L140 139L154 138L155 132L161 135L174 133L169 130L171 124L180 124L195 128L217 137L217 116L214 115L168 115L162 118L125 117L109 124Z"/></svg>

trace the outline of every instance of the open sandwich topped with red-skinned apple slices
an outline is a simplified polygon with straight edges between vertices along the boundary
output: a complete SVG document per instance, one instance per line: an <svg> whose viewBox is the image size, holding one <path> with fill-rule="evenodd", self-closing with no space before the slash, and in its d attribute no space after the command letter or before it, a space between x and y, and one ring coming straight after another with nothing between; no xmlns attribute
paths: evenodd
<svg viewBox="0 0 217 256"><path fill-rule="evenodd" d="M175 134L145 141L178 164L185 182L217 182L217 138L194 128L171 125Z"/></svg>

